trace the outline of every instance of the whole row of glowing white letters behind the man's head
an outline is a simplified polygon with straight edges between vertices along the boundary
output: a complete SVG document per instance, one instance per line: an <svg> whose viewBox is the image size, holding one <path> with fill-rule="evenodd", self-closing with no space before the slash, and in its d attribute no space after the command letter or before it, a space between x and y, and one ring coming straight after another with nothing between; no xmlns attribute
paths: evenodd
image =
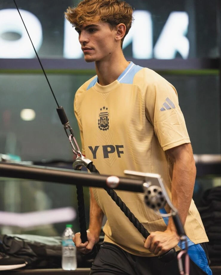
<svg viewBox="0 0 221 275"><path fill-rule="evenodd" d="M33 44L38 51L42 45L42 26L39 19L32 13L20 10ZM125 37L123 49L132 43L132 55L137 59L173 59L177 52L182 58L188 58L189 41L188 14L186 12L171 12L153 49L153 26L151 13L146 10L136 10L133 13L134 22ZM11 20L13 18L13 20ZM10 41L1 37L7 32L21 35L18 40ZM64 21L64 58L78 59L83 57L78 33L65 19ZM16 9L0 10L0 58L35 58L24 25Z"/></svg>

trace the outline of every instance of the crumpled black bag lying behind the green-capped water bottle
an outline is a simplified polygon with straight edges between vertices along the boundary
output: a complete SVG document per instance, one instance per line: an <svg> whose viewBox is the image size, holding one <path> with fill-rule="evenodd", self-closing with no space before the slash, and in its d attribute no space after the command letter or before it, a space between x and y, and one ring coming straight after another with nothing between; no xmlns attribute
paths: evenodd
<svg viewBox="0 0 221 275"><path fill-rule="evenodd" d="M1 235L0 251L27 262L25 268L61 268L62 238L36 235ZM93 259L86 260L77 251L78 268L90 268Z"/></svg>

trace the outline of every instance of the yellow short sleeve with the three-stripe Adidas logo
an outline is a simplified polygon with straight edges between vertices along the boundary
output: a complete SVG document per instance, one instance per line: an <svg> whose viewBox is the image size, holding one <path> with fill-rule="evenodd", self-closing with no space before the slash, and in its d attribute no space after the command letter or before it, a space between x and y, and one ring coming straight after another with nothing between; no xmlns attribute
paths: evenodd
<svg viewBox="0 0 221 275"><path fill-rule="evenodd" d="M160 76L148 85L145 112L154 126L154 132L164 151L190 143L185 120L179 107L177 91Z"/></svg>

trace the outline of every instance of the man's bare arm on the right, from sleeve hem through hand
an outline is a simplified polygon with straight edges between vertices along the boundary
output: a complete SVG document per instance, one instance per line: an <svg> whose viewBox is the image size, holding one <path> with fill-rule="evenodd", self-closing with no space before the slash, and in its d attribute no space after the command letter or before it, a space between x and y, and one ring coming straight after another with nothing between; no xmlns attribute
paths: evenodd
<svg viewBox="0 0 221 275"><path fill-rule="evenodd" d="M190 143L171 148L166 151L174 165L172 179L172 203L177 208L182 224L185 224L196 177L196 166ZM156 231L150 234L145 241L148 248L155 255L161 255L179 242L172 218L164 232Z"/></svg>

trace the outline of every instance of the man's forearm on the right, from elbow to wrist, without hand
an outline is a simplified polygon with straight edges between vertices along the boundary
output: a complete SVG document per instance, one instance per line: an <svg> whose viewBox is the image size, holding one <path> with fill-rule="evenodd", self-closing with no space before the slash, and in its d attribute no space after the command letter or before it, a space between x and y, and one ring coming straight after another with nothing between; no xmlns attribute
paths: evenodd
<svg viewBox="0 0 221 275"><path fill-rule="evenodd" d="M172 203L177 208L181 223L184 225L193 196L196 178L194 159L191 161L178 160L174 163L172 179ZM175 225L169 219L168 229L174 231Z"/></svg>

